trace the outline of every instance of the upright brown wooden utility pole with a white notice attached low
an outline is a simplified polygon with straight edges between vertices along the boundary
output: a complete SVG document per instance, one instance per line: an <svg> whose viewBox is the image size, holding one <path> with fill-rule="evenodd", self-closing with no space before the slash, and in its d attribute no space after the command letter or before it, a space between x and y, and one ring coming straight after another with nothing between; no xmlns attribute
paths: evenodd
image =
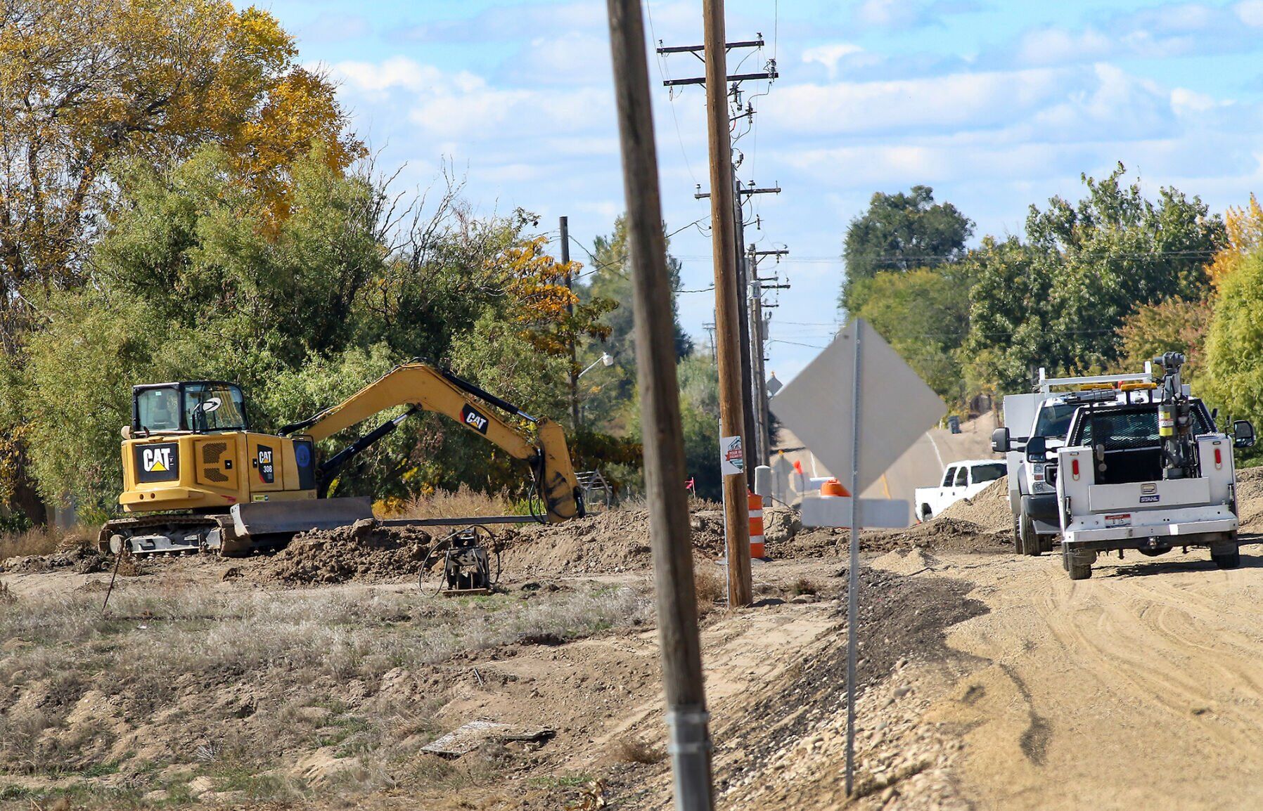
<svg viewBox="0 0 1263 811"><path fill-rule="evenodd" d="M724 48L724 0L702 0L706 50L706 134L710 140L711 250L715 254L715 354L719 359L720 454L731 438L745 435L741 399L741 300L736 279L736 223L733 212L733 145L727 130L727 52ZM724 526L727 537L727 598L749 605L750 512L745 459L736 473L722 474Z"/></svg>

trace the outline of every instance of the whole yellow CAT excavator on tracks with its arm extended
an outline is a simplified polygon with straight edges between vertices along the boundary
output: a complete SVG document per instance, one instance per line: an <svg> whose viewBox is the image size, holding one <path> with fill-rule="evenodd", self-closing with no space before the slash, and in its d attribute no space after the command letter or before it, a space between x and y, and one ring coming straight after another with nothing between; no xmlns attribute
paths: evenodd
<svg viewBox="0 0 1263 811"><path fill-rule="evenodd" d="M317 441L400 405L409 407L317 460ZM418 411L445 414L524 460L538 521L584 515L582 493L558 424L533 417L451 372L412 361L336 406L285 425L279 434L250 430L245 397L236 383L184 381L133 387L131 424L123 429L124 491L119 496L129 515L101 527L99 546L115 554L206 550L232 556L284 544L297 532L371 518L366 497L325 496L347 462Z"/></svg>

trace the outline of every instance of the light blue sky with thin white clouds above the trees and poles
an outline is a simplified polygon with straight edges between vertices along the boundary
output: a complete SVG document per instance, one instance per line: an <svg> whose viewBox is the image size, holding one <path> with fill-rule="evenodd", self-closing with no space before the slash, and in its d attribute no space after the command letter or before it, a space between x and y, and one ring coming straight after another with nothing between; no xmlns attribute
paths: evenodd
<svg viewBox="0 0 1263 811"><path fill-rule="evenodd" d="M525 208L541 232L567 214L585 245L623 208L605 4L273 0L302 59L340 83L354 129L400 188L434 184L443 163L481 213ZM652 0L653 35L701 42L701 0ZM1212 211L1263 187L1263 0L729 0L729 39L762 32L781 78L749 82L753 130L740 175L760 247L788 246L793 285L768 300L769 370L792 377L827 343L847 222L875 190L932 185L985 233L1021 233L1031 203L1077 198L1080 174L1118 161L1146 188L1176 185ZM740 59L733 52L730 59ZM730 62L731 66L731 62ZM650 59L663 209L685 289L710 285L706 129L687 54ZM584 259L581 250L573 251ZM764 271L769 267L765 265ZM681 298L702 335L710 293Z"/></svg>

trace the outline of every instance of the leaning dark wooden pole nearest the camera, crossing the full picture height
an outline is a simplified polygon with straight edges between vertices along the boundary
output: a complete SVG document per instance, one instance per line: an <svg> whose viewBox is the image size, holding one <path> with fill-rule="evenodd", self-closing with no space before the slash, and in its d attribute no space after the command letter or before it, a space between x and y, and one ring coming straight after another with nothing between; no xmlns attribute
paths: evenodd
<svg viewBox="0 0 1263 811"><path fill-rule="evenodd" d="M608 8L635 304L637 382L640 387L649 540L653 546L662 679L667 694L667 752L671 753L674 774L676 811L714 811L692 534L688 493L685 491L685 433L679 420L672 290L658 197L658 156L653 140L644 21L640 0L608 0ZM726 130L724 140L727 141ZM744 492L739 502L744 512ZM749 545L741 559L749 574Z"/></svg>

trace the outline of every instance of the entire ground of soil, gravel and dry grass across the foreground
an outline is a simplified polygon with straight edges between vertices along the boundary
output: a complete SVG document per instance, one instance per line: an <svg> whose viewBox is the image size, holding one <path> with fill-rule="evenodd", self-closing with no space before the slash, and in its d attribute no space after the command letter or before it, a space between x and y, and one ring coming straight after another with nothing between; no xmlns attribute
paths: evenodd
<svg viewBox="0 0 1263 811"><path fill-rule="evenodd" d="M1239 481L1249 528L1263 469ZM1003 481L864 532L846 798L847 534L767 511L773 560L729 610L721 515L692 521L725 811L1263 803L1253 547L1072 584L1012 552ZM0 808L671 807L648 513L499 531L485 597L418 590L441 539L365 523L128 560L112 586L92 551L3 561ZM427 752L458 730L467 753Z"/></svg>

